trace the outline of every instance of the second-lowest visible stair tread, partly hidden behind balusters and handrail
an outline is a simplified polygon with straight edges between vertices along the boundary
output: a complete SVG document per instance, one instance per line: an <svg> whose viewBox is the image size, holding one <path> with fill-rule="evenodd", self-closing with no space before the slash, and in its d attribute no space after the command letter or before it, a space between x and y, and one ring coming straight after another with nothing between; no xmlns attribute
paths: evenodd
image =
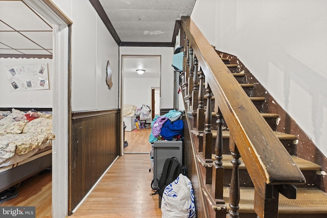
<svg viewBox="0 0 327 218"><path fill-rule="evenodd" d="M296 156L291 156L294 160L294 162L296 163L296 165L300 168L301 171L320 171L321 170L321 166L319 166L316 163L313 163L311 161L296 157ZM215 155L212 155L212 159L213 161L215 161ZM224 168L232 168L232 164L231 164L231 159L232 156L229 154L223 154L223 166ZM240 169L245 169L245 164L242 160L242 157L240 158L241 161L241 165L239 166Z"/></svg>

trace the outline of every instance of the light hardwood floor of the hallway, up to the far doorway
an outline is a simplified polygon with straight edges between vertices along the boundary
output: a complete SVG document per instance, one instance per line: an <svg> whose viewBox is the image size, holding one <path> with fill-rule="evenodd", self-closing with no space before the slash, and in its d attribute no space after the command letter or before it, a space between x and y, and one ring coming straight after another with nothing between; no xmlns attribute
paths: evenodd
<svg viewBox="0 0 327 218"><path fill-rule="evenodd" d="M161 217L149 154L124 154L69 217Z"/></svg>

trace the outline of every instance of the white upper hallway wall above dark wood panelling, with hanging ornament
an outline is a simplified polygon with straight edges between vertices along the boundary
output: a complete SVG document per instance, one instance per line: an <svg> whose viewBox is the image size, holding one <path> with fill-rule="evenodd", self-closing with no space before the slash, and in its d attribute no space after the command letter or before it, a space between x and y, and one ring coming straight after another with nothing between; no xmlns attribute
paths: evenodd
<svg viewBox="0 0 327 218"><path fill-rule="evenodd" d="M72 110L119 108L119 49L89 1L54 1L73 21ZM110 61L112 88L106 85Z"/></svg>

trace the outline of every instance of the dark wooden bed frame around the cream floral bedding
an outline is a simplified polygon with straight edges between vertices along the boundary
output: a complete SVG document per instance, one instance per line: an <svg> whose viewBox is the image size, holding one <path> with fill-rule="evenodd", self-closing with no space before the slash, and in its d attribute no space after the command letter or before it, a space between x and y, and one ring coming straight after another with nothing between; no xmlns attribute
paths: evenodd
<svg viewBox="0 0 327 218"><path fill-rule="evenodd" d="M0 108L1 111L11 111L12 108ZM32 108L15 108L20 111L29 111ZM34 108L36 111L52 111L52 108ZM29 161L8 171L0 173L0 192L24 181L25 179L43 171L52 165L52 153Z"/></svg>

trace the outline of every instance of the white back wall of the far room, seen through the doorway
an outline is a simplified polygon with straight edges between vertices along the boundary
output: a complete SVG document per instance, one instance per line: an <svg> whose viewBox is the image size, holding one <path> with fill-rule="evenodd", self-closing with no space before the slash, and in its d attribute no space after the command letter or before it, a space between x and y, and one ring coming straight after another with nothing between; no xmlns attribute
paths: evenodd
<svg viewBox="0 0 327 218"><path fill-rule="evenodd" d="M124 104L138 108L145 104L151 108L151 88L159 84L159 78L124 78Z"/></svg>

